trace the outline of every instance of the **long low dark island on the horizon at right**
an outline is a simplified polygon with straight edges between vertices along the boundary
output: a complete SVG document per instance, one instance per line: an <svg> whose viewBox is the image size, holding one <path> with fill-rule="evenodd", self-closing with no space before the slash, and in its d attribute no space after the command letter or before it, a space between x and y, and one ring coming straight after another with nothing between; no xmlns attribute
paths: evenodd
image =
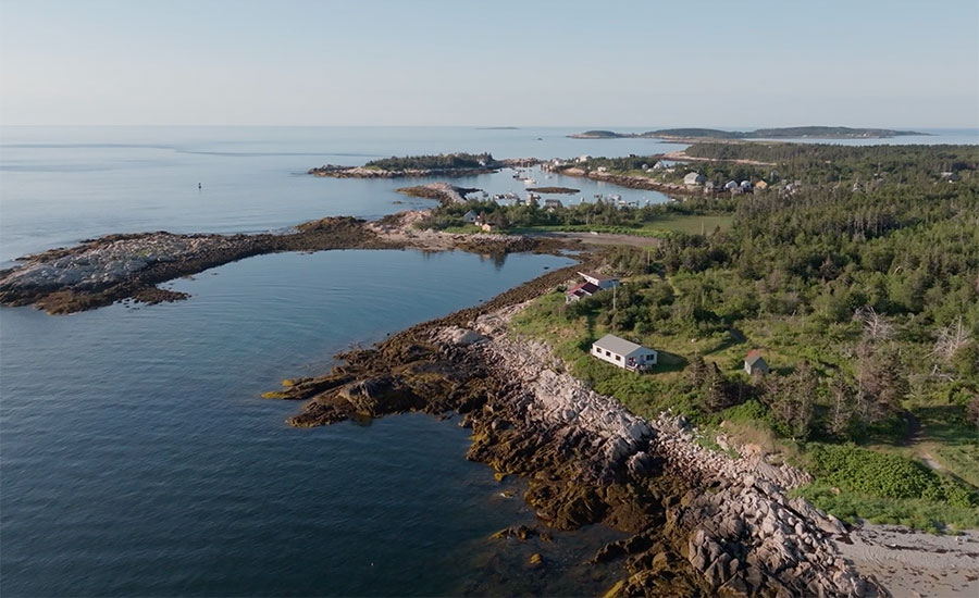
<svg viewBox="0 0 979 598"><path fill-rule="evenodd" d="M892 130L889 128L851 128L844 126L795 126L780 128L757 128L755 130L721 130L719 128L662 128L645 133L616 133L614 130L586 130L569 135L572 139L885 139L906 135L928 135L915 130Z"/></svg>

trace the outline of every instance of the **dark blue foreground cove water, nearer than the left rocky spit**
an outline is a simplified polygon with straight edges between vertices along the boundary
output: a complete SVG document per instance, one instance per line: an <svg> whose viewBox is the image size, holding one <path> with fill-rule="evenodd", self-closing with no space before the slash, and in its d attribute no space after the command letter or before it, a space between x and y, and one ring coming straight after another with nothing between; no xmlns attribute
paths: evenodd
<svg viewBox="0 0 979 598"><path fill-rule="evenodd" d="M604 528L548 545L518 481L421 414L295 429L259 398L331 356L474 304L566 258L274 254L171 285L193 297L53 317L0 311L3 596L595 594ZM515 490L516 497L501 493ZM550 564L531 570L540 550Z"/></svg>

